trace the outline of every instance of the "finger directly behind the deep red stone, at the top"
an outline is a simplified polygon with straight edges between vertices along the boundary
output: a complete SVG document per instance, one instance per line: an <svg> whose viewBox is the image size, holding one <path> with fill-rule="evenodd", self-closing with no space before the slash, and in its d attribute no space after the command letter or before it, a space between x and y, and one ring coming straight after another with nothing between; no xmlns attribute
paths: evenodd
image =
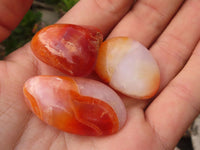
<svg viewBox="0 0 200 150"><path fill-rule="evenodd" d="M59 22L95 26L106 36L133 3L134 0L79 1Z"/></svg>

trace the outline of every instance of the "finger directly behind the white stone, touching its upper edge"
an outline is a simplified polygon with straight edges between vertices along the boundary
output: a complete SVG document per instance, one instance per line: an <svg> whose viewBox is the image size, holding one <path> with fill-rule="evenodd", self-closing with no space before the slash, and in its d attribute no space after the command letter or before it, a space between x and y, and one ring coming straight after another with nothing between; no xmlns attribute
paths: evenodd
<svg viewBox="0 0 200 150"><path fill-rule="evenodd" d="M110 37L128 36L149 47L168 25L183 0L140 0Z"/></svg>

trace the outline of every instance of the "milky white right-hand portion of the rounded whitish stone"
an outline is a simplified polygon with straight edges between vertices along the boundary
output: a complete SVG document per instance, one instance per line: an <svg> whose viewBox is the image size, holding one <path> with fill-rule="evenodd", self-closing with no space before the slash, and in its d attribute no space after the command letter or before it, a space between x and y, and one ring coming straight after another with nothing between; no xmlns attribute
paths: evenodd
<svg viewBox="0 0 200 150"><path fill-rule="evenodd" d="M126 55L116 66L110 85L131 97L147 97L158 86L159 68L150 52L133 41Z"/></svg>

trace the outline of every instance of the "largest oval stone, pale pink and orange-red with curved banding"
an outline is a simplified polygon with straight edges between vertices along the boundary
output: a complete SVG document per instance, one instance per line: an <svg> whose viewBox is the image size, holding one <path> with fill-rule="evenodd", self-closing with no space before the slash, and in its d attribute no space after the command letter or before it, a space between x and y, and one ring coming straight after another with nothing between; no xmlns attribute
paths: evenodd
<svg viewBox="0 0 200 150"><path fill-rule="evenodd" d="M126 121L119 96L98 81L36 76L24 85L26 103L44 122L79 135L108 135Z"/></svg>

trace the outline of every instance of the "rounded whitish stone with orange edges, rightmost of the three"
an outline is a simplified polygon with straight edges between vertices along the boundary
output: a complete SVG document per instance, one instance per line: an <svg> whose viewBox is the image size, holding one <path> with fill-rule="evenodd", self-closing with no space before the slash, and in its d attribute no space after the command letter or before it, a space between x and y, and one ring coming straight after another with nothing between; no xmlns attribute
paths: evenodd
<svg viewBox="0 0 200 150"><path fill-rule="evenodd" d="M115 90L137 99L151 98L160 84L159 67L151 53L127 37L102 43L96 72Z"/></svg>

